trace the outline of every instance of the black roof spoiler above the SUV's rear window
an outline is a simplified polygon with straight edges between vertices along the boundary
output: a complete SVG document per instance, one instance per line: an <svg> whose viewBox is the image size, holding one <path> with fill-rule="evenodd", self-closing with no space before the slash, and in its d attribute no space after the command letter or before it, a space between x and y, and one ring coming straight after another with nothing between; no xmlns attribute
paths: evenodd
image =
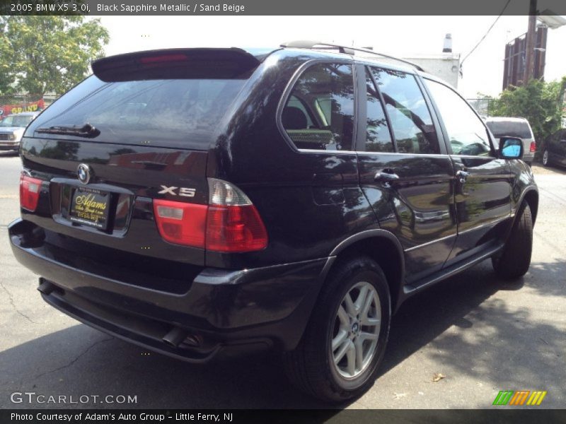
<svg viewBox="0 0 566 424"><path fill-rule="evenodd" d="M117 54L93 61L107 83L151 79L245 79L260 61L243 49L161 49Z"/></svg>

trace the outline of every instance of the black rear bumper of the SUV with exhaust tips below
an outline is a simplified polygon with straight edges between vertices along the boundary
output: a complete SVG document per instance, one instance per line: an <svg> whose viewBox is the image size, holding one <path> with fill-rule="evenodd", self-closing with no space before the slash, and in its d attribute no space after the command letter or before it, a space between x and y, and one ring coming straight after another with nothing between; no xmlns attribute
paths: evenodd
<svg viewBox="0 0 566 424"><path fill-rule="evenodd" d="M16 259L42 276L40 291L50 305L97 329L190 362L249 348L294 348L333 261L239 271L204 268L190 277L186 291L173 293L110 278L120 276L112 269L95 273L80 269L80 261L65 262L65 252L42 239L42 229L30 221L14 221L8 234ZM164 343L172 329L198 343Z"/></svg>

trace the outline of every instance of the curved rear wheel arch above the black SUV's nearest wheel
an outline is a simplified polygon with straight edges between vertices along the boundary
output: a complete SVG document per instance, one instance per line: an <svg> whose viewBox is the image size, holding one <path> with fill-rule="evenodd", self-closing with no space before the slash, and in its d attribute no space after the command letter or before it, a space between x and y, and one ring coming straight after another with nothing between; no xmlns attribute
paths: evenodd
<svg viewBox="0 0 566 424"><path fill-rule="evenodd" d="M405 278L405 257L397 237L386 230L366 230L343 240L330 253L335 256L332 267L352 257L367 256L379 264L386 276L391 294L391 309L399 306Z"/></svg>

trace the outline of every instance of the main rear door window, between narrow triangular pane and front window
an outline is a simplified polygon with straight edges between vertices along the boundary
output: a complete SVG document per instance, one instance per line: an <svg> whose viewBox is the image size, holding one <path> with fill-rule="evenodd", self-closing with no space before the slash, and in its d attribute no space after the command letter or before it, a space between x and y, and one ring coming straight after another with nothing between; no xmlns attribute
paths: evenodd
<svg viewBox="0 0 566 424"><path fill-rule="evenodd" d="M390 69L371 68L383 95L400 153L440 153L427 102L415 76Z"/></svg>

